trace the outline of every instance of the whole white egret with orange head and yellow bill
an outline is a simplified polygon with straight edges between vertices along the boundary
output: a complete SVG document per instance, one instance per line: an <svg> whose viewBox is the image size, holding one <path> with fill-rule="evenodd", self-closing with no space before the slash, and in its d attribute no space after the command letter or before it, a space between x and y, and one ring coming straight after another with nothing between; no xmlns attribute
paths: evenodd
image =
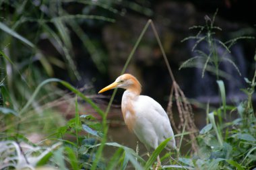
<svg viewBox="0 0 256 170"><path fill-rule="evenodd" d="M140 95L141 85L133 75L121 75L99 93L118 87L126 89L121 104L125 124L145 144L148 151L152 148L156 149L166 138L171 138L166 148L176 148L174 134L166 112L151 97Z"/></svg>

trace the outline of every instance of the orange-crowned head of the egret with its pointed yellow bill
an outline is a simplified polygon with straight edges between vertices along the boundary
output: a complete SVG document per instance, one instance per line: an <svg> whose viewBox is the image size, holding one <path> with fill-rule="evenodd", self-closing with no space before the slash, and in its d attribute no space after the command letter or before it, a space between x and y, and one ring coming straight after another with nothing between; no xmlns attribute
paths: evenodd
<svg viewBox="0 0 256 170"><path fill-rule="evenodd" d="M104 87L98 93L102 93L104 91L108 91L110 89L116 89L116 88L127 89L137 94L141 92L141 85L139 81L133 75L124 74L117 77L114 83Z"/></svg>

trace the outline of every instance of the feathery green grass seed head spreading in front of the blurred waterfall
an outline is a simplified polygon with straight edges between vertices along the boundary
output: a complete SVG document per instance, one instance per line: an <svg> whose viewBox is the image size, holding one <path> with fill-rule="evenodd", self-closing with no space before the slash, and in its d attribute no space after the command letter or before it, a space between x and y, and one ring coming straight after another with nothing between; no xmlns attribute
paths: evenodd
<svg viewBox="0 0 256 170"><path fill-rule="evenodd" d="M229 62L232 65L239 75L241 75L238 67L232 61L231 58L228 58L226 54L230 53L230 48L236 44L238 40L241 39L251 39L251 36L239 36L237 38L233 38L232 40L228 40L226 42L222 42L216 38L216 31L221 31L222 29L218 26L214 26L216 13L214 13L213 18L211 19L207 15L205 15L205 25L204 26L193 26L189 28L190 30L199 30L195 36L189 36L182 40L182 42L187 40L195 40L195 44L192 48L192 51L195 52L195 56L183 62L179 69L183 69L185 67L200 67L202 69L201 77L204 77L205 71L209 71L210 73L216 75L216 79L220 79L220 77L228 77L229 75L224 71L220 70L221 62ZM197 50L197 46L205 42L207 47L205 51ZM218 52L218 48L223 48L223 52ZM201 65L195 65L195 63L199 61Z"/></svg>

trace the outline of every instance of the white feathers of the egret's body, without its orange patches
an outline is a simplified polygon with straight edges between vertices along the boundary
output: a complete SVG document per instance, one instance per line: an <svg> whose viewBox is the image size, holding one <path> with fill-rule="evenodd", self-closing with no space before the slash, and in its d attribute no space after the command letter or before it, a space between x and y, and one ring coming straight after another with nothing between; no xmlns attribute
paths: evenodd
<svg viewBox="0 0 256 170"><path fill-rule="evenodd" d="M129 95L133 94L130 91L123 93L122 108L127 102L126 100L130 98ZM137 95L133 98L131 105L135 112L132 130L137 138L145 144L148 151L152 148L156 149L161 142L170 137L172 139L167 144L168 150L176 147L169 118L158 102L146 95ZM132 115L127 112L125 116Z"/></svg>

